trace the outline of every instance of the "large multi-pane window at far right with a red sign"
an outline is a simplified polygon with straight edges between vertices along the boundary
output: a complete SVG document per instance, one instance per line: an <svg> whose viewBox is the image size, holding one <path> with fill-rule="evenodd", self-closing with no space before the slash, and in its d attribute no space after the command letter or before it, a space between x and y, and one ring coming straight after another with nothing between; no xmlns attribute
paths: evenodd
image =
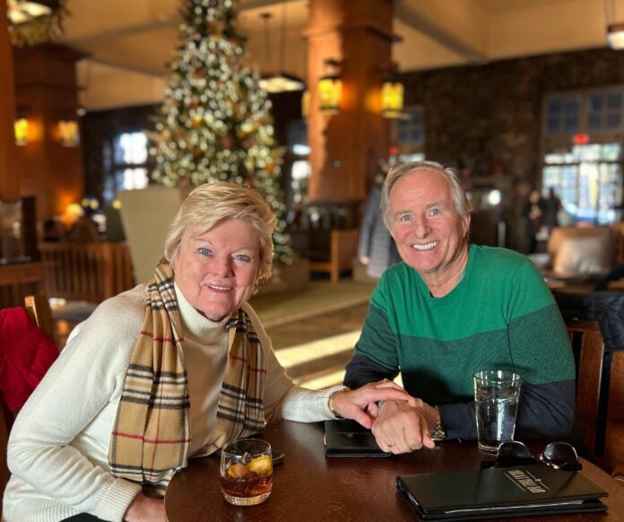
<svg viewBox="0 0 624 522"><path fill-rule="evenodd" d="M620 221L624 86L552 94L544 103L542 188L575 221Z"/></svg>

